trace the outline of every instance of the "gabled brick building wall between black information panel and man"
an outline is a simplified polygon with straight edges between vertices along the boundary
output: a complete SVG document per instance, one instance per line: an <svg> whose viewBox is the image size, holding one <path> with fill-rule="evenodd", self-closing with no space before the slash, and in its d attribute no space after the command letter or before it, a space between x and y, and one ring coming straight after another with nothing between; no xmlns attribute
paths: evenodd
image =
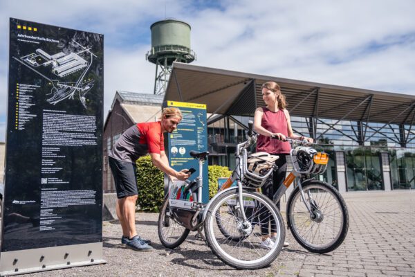
<svg viewBox="0 0 415 277"><path fill-rule="evenodd" d="M104 193L113 193L116 190L114 186L113 178L111 175L111 169L108 164L108 154L111 150L113 143L126 129L131 127L134 123L129 116L122 109L120 102L116 100L113 109L109 114L107 125L104 127L104 137L102 141L103 145L103 157L104 157L104 170L102 174L102 186Z"/></svg>

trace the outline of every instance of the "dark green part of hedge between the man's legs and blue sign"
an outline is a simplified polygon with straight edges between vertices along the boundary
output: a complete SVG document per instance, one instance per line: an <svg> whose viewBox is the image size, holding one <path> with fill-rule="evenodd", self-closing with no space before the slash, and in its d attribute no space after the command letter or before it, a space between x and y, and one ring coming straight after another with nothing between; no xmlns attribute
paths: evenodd
<svg viewBox="0 0 415 277"><path fill-rule="evenodd" d="M158 213L164 198L164 173L153 166L150 156L140 157L137 164L137 204L141 211Z"/></svg>

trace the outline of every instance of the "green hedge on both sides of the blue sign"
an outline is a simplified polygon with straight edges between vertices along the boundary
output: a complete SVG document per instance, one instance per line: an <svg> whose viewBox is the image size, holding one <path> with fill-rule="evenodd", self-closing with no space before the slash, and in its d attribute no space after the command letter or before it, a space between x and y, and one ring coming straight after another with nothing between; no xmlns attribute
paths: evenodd
<svg viewBox="0 0 415 277"><path fill-rule="evenodd" d="M137 188L138 199L137 205L140 211L149 211L158 213L158 209L163 203L164 184L163 172L153 166L150 156L140 157L137 164ZM209 199L211 199L218 190L218 178L230 177L232 172L224 166L209 166Z"/></svg>

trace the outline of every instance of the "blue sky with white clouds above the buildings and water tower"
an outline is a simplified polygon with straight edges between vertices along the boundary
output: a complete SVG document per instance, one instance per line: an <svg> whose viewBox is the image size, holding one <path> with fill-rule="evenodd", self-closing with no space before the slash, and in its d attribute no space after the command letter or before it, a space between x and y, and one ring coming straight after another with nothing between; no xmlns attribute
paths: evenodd
<svg viewBox="0 0 415 277"><path fill-rule="evenodd" d="M415 1L1 0L0 141L9 17L104 34L104 111L116 90L152 93L150 25L192 26L194 64L415 94Z"/></svg>

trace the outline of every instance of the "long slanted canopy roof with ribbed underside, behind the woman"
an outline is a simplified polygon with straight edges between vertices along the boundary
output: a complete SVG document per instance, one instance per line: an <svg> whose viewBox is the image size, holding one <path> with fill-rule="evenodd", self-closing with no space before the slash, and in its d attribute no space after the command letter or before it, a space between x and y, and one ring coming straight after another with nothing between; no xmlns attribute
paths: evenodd
<svg viewBox="0 0 415 277"><path fill-rule="evenodd" d="M253 116L261 84L275 81L291 116L414 124L415 96L304 82L175 62L164 100L206 104L212 114Z"/></svg>

